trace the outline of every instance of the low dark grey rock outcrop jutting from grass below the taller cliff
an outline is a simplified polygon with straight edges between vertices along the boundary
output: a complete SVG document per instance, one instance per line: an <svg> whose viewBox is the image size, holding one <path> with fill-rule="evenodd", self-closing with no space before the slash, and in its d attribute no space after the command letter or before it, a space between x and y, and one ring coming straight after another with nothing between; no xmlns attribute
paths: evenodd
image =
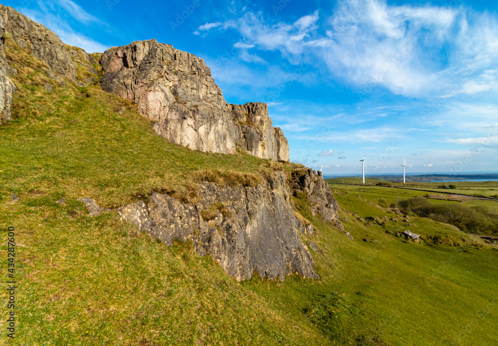
<svg viewBox="0 0 498 346"><path fill-rule="evenodd" d="M166 244L191 240L197 252L209 253L231 277L241 281L256 272L261 279L297 273L319 278L313 258L299 240L301 222L289 203L283 172L256 187L199 186L198 204L154 193L148 204L119 209L122 219Z"/></svg>

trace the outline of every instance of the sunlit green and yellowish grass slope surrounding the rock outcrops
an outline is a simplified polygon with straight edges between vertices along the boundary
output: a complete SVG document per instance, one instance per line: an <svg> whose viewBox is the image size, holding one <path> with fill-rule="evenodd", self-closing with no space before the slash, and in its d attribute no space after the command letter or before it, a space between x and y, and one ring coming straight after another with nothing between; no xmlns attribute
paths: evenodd
<svg viewBox="0 0 498 346"><path fill-rule="evenodd" d="M257 178L293 166L167 143L134 106L98 86L61 87L39 61L7 44L19 75L16 118L0 126L0 227L16 229L17 330L15 341L6 338L3 305L0 345L498 344L497 248L429 219L409 217L415 226L405 226L377 203L425 192L332 186L354 241L313 216L307 201L291 198L318 230L302 241L317 245L321 279L283 283L256 276L238 283L189 243L166 247L113 212L90 217L77 199L108 207L151 191L195 199L196 179L207 170ZM52 93L45 82L54 84ZM56 203L62 197L66 204ZM367 226L358 219L372 216L399 221ZM406 229L462 246L393 235Z"/></svg>

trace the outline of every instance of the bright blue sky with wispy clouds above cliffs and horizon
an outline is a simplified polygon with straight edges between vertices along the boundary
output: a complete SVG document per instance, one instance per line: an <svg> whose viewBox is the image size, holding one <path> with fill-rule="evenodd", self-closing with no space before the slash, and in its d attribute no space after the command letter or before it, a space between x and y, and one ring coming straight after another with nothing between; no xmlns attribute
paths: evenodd
<svg viewBox="0 0 498 346"><path fill-rule="evenodd" d="M496 1L4 1L88 52L155 38L325 174L497 171ZM183 17L182 17L183 15Z"/></svg>

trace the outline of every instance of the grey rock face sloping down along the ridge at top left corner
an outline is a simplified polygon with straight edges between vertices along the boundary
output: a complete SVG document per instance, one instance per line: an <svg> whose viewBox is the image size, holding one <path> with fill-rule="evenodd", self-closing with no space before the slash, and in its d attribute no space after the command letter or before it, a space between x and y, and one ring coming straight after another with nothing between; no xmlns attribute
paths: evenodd
<svg viewBox="0 0 498 346"><path fill-rule="evenodd" d="M0 5L0 16L5 31L22 48L29 46L31 53L58 74L76 80L76 66L59 36L41 24L20 14L12 7Z"/></svg>

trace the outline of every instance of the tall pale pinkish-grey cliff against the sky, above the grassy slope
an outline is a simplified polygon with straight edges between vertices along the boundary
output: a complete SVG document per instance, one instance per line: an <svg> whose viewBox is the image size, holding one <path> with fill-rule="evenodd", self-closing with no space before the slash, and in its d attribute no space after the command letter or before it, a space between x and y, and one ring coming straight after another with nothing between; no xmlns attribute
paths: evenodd
<svg viewBox="0 0 498 346"><path fill-rule="evenodd" d="M106 51L104 90L135 102L156 132L193 150L233 154L237 145L266 159L289 159L287 140L264 104L229 105L211 70L190 53L156 40Z"/></svg>

